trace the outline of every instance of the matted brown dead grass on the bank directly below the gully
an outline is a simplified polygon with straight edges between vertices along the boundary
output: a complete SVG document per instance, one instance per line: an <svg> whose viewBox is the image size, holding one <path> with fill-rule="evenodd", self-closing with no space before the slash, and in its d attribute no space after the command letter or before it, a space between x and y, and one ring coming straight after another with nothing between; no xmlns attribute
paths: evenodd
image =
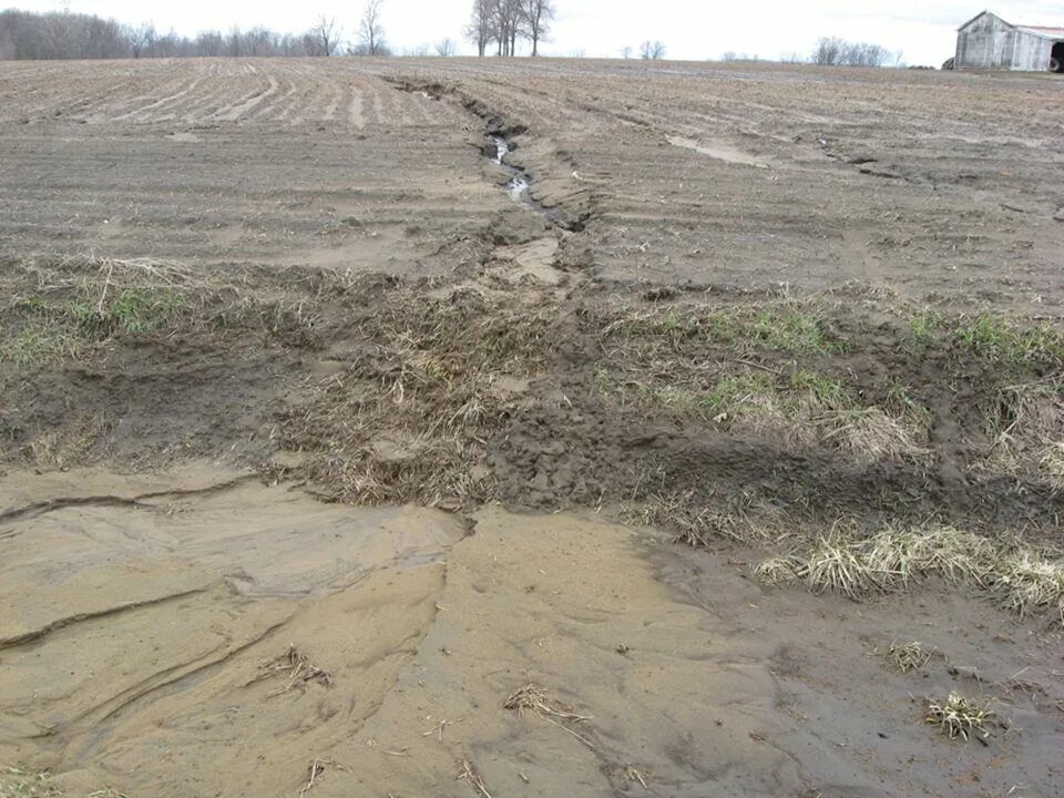
<svg viewBox="0 0 1064 798"><path fill-rule="evenodd" d="M556 308L511 295L399 287L359 325L344 375L285 411L276 438L305 475L358 503L490 501L488 441L513 411L500 388L543 368Z"/></svg>

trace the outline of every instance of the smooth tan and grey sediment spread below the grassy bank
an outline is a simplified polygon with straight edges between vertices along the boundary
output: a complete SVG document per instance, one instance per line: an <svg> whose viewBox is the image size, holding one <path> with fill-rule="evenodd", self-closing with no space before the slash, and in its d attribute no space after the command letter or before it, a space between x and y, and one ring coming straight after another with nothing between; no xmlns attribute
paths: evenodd
<svg viewBox="0 0 1064 798"><path fill-rule="evenodd" d="M206 464L9 475L2 500L25 512L0 528L0 757L57 774L2 777L30 795L1058 785L1058 638L962 595L814 598L593 514L467 529ZM902 674L909 638L935 653ZM923 723L951 689L998 697L986 746Z"/></svg>

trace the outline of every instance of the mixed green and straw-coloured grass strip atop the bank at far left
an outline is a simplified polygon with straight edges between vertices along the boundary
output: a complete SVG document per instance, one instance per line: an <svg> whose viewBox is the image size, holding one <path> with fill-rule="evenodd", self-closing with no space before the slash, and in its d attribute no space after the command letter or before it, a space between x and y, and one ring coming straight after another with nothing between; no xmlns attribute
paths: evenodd
<svg viewBox="0 0 1064 798"><path fill-rule="evenodd" d="M203 270L92 254L30 258L3 277L0 359L24 368L102 356L114 340L191 332L310 346L320 337L319 300L357 282L327 270Z"/></svg>

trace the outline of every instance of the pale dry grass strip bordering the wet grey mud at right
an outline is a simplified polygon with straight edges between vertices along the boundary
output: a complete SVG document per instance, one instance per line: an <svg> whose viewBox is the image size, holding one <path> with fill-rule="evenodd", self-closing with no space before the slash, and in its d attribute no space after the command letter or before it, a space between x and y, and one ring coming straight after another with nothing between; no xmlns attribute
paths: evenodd
<svg viewBox="0 0 1064 798"><path fill-rule="evenodd" d="M1021 616L1056 612L1064 625L1064 555L952 526L887 528L863 538L836 530L806 553L771 557L754 573L769 584L804 581L812 593L855 601L937 577L982 590Z"/></svg>

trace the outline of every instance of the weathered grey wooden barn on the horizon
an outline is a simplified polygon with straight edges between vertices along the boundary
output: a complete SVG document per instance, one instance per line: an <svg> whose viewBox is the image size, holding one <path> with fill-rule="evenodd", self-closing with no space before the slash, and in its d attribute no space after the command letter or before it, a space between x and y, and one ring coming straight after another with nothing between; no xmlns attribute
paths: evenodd
<svg viewBox="0 0 1064 798"><path fill-rule="evenodd" d="M1064 71L1064 28L1014 25L983 11L956 31L955 69Z"/></svg>

